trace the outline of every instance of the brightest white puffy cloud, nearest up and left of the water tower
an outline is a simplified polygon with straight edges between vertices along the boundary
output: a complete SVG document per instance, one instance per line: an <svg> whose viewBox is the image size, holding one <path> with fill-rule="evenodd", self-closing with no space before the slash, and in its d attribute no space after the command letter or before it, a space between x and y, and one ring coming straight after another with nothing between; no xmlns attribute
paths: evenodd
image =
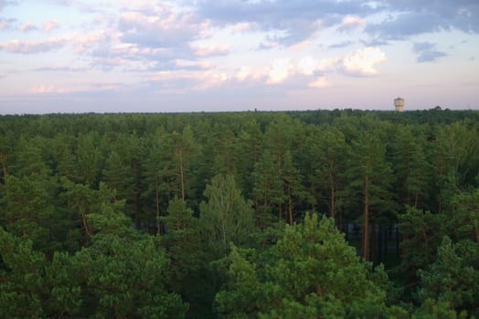
<svg viewBox="0 0 479 319"><path fill-rule="evenodd" d="M368 46L344 57L343 67L347 73L360 76L378 74L377 64L386 61L386 54L376 46Z"/></svg>

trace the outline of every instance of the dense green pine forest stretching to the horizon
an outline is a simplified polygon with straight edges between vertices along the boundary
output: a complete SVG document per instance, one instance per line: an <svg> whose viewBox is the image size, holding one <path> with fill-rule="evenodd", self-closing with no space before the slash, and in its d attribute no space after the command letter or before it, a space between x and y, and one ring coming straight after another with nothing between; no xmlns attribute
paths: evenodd
<svg viewBox="0 0 479 319"><path fill-rule="evenodd" d="M1 318L479 318L479 111L0 116Z"/></svg>

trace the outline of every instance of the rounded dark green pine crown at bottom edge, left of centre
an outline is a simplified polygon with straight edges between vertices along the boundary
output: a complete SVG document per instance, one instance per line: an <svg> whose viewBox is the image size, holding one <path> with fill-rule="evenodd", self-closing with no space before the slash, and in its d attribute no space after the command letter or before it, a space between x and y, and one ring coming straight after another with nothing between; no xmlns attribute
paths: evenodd
<svg viewBox="0 0 479 319"><path fill-rule="evenodd" d="M166 291L168 259L154 237L128 242L101 236L74 256L73 268L89 298L83 311L94 309L97 317L176 318L186 312L179 296Z"/></svg>

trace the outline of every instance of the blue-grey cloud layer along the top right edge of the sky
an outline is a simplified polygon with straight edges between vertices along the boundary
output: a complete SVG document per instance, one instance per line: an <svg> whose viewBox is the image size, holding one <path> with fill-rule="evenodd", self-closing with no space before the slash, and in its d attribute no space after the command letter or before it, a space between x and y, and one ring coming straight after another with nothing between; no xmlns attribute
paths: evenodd
<svg viewBox="0 0 479 319"><path fill-rule="evenodd" d="M254 3L203 0L195 3L199 15L217 24L253 22L264 30L283 30L286 36L280 36L277 40L284 45L302 41L319 27L339 24L345 15L365 17L378 12L389 13L391 17L366 27L365 31L375 41L405 39L452 28L479 33L477 0L383 0L375 2L375 5L357 0L279 0Z"/></svg>

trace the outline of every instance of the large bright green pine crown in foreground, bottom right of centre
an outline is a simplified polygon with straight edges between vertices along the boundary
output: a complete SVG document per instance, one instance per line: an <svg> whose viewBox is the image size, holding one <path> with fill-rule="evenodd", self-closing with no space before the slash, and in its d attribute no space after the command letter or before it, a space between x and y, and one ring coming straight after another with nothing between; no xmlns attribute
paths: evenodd
<svg viewBox="0 0 479 319"><path fill-rule="evenodd" d="M216 298L220 315L374 317L389 311L386 292L368 279L367 263L347 245L333 220L318 221L310 214L303 225L287 226L282 238L262 253L267 262L233 246L228 281Z"/></svg>

